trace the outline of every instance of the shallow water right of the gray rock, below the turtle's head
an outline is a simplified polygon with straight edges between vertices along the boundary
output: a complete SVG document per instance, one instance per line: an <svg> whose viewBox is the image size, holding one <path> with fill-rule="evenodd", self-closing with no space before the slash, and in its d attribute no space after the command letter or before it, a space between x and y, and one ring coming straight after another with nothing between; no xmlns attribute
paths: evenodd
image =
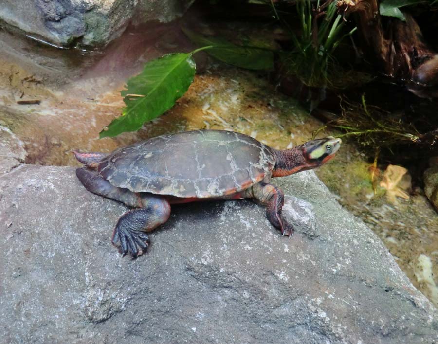
<svg viewBox="0 0 438 344"><path fill-rule="evenodd" d="M418 187L407 190L408 199L394 197L379 186L375 193L372 166L355 145L343 142L336 163L316 170L316 174L339 203L382 239L412 283L438 305L437 212ZM380 180L382 177L377 177L374 186Z"/></svg>

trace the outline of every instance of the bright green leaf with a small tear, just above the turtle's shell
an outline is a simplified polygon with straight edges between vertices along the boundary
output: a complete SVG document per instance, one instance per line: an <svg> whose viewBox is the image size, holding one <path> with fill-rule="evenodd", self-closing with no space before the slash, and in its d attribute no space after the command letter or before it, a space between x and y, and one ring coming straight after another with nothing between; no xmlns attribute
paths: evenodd
<svg viewBox="0 0 438 344"><path fill-rule="evenodd" d="M196 65L189 54L168 54L146 63L143 72L130 78L122 91L126 107L100 138L135 131L143 123L172 108L187 91L195 76Z"/></svg>

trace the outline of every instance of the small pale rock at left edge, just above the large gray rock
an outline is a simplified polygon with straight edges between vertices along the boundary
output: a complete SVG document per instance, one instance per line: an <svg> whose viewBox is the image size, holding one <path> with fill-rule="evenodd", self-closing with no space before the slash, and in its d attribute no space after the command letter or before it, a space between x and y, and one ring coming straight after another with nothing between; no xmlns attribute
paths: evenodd
<svg viewBox="0 0 438 344"><path fill-rule="evenodd" d="M0 176L26 159L20 139L8 128L0 126Z"/></svg>

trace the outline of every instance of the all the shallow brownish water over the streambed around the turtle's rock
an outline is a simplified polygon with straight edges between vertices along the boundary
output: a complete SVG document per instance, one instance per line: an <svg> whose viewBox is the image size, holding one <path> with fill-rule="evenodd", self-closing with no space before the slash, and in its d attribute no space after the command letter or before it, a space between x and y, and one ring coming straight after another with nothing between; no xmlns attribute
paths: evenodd
<svg viewBox="0 0 438 344"><path fill-rule="evenodd" d="M58 50L7 30L0 30L0 41L0 125L24 142L27 163L78 165L71 149L107 152L197 128L235 130L284 149L309 140L322 125L279 93L267 74L218 64L202 53L196 57L192 86L174 108L138 132L98 140L99 131L121 113L120 91L127 77L147 60L191 50L178 24L128 29L101 52ZM18 105L18 100L41 103ZM413 284L438 305L437 213L421 190L408 200L397 198L395 204L375 197L368 167L366 157L345 143L317 174L341 204L382 238Z"/></svg>

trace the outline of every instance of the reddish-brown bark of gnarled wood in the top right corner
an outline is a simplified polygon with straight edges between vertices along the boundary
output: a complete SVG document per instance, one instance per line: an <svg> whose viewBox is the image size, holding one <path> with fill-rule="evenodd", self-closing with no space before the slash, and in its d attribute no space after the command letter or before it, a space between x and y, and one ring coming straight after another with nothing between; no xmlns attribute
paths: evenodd
<svg viewBox="0 0 438 344"><path fill-rule="evenodd" d="M382 18L377 0L342 0L337 6L345 16L353 14L365 53L383 74L420 97L438 97L438 54L424 42L411 15L404 13L406 21Z"/></svg>

